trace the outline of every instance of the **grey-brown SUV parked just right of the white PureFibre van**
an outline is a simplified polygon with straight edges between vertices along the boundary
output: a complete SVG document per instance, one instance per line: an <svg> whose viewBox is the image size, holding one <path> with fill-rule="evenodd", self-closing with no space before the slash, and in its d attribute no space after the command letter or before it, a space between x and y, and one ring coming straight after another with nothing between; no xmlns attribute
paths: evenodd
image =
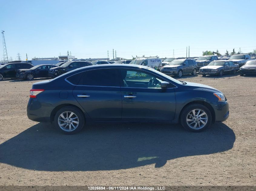
<svg viewBox="0 0 256 191"><path fill-rule="evenodd" d="M162 73L181 77L183 74L196 75L197 63L194 59L176 59L163 66Z"/></svg>

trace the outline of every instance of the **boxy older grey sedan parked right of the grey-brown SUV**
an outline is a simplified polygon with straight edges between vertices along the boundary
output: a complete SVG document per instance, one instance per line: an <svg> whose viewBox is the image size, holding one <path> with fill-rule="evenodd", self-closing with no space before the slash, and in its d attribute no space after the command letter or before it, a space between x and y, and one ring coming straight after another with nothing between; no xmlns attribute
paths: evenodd
<svg viewBox="0 0 256 191"><path fill-rule="evenodd" d="M212 61L207 66L201 67L199 69L199 74L202 74L203 76L206 76L206 75L222 76L224 73L228 73L228 72L235 74L235 72L238 70L239 70L239 65L234 64L234 62L232 61L215 60L215 61Z"/></svg>

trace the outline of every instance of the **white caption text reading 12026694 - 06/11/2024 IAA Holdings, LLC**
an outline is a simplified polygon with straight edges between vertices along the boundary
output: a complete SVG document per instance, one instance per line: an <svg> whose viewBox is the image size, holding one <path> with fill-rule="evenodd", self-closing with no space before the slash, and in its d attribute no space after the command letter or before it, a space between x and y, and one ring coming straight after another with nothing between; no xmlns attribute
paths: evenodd
<svg viewBox="0 0 256 191"><path fill-rule="evenodd" d="M88 186L88 190L165 190L165 186Z"/></svg>

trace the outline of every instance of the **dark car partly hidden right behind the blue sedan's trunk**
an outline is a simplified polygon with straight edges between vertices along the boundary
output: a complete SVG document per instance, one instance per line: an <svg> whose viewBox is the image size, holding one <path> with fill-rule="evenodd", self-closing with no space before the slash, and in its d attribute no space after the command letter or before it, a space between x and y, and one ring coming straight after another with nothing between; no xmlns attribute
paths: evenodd
<svg viewBox="0 0 256 191"><path fill-rule="evenodd" d="M71 62L65 62L61 66L51 68L48 72L48 76L55 78L59 75L62 75L66 72L69 72L71 70L75 70L77 68L85 67L85 66L91 66L92 63L88 61L71 61Z"/></svg>

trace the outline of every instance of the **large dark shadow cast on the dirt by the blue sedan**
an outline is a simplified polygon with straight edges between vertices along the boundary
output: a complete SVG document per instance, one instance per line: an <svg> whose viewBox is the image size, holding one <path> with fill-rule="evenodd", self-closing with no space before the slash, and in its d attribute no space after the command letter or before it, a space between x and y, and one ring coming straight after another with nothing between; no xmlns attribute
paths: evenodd
<svg viewBox="0 0 256 191"><path fill-rule="evenodd" d="M45 171L162 167L175 158L227 151L234 141L223 123L200 133L169 124L96 124L75 135L38 123L0 145L0 162Z"/></svg>

